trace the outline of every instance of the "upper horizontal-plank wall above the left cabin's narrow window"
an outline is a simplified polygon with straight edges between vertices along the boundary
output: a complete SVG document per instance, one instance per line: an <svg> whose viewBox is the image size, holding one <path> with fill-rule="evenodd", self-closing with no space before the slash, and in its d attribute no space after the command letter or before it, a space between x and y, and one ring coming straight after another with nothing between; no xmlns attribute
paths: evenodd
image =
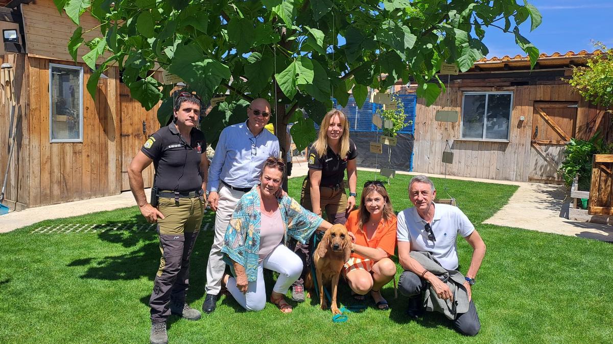
<svg viewBox="0 0 613 344"><path fill-rule="evenodd" d="M21 13L23 14L28 56L72 61L66 47L77 26L72 23L66 13L59 14L53 0L35 0L29 4L22 4ZM84 13L79 18L79 22L85 32L83 38L86 41L101 36L99 29L86 32L100 24L88 13ZM82 61L81 56L88 51L89 48L85 45L79 47L77 61ZM102 58L98 60L99 63L102 61L104 61Z"/></svg>

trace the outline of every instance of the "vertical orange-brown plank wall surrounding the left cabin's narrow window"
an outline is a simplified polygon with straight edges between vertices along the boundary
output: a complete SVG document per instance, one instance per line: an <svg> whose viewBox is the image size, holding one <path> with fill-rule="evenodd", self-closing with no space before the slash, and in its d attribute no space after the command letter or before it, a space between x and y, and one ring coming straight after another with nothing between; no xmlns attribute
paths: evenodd
<svg viewBox="0 0 613 344"><path fill-rule="evenodd" d="M28 58L31 154L29 206L64 203L120 192L120 120L115 67L101 78L94 101L85 91L85 64ZM83 68L83 142L49 142L49 63Z"/></svg>

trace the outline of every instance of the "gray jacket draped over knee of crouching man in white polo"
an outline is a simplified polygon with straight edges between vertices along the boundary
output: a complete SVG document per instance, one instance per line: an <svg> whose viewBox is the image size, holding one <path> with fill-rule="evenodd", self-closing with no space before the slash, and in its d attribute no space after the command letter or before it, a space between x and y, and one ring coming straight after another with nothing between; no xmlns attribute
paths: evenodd
<svg viewBox="0 0 613 344"><path fill-rule="evenodd" d="M435 274L446 283L454 296L454 301L443 300L436 294L432 286L425 291L424 306L428 312L435 310L443 313L449 320L454 320L457 314L468 312L468 292L464 287L464 275L459 271L447 270L436 261L430 252L411 251L411 258L416 260L427 271Z"/></svg>

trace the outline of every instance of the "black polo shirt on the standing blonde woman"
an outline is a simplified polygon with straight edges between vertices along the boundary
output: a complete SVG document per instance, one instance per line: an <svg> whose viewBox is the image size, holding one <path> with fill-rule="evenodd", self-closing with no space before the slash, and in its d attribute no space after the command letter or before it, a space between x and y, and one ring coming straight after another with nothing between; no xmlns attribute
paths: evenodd
<svg viewBox="0 0 613 344"><path fill-rule="evenodd" d="M319 185L333 187L340 184L345 179L345 170L347 170L347 161L354 160L357 157L356 144L349 139L349 152L347 156L340 157L338 154L328 147L326 155L318 156L313 144L309 147L308 168L313 170L321 170L321 183Z"/></svg>

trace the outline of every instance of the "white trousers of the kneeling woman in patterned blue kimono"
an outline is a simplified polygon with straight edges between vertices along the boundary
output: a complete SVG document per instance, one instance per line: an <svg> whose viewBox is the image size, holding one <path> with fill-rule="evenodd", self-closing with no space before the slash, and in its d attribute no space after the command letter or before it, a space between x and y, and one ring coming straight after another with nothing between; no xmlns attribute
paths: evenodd
<svg viewBox="0 0 613 344"><path fill-rule="evenodd" d="M272 290L275 293L286 294L289 286L296 282L302 273L302 260L285 245L280 244L257 266L257 281L249 282L247 293L241 293L236 287L236 279L230 277L226 288L246 310L262 310L266 305L264 269L279 273Z"/></svg>

